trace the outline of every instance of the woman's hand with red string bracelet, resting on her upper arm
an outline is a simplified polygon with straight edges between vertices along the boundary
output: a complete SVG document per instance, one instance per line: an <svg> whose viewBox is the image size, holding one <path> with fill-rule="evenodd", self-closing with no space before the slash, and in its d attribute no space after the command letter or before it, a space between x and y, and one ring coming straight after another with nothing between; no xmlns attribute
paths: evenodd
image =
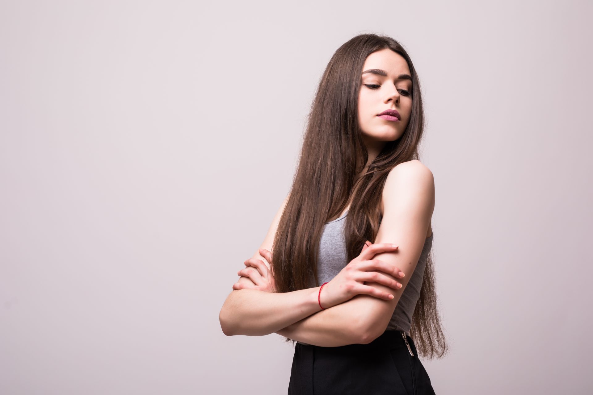
<svg viewBox="0 0 593 395"><path fill-rule="evenodd" d="M384 300L393 299L393 295L390 293L379 291L370 285L364 285L364 282L378 282L396 290L401 288L399 282L392 280L378 271L391 274L393 277L398 278L404 277L404 273L392 264L380 261L379 259L372 259L377 253L393 252L397 248L396 245L391 243L371 244L371 242L367 241L362 247L361 254L352 259L336 277L324 285L319 297L321 306L327 309L328 307L343 303L358 294L366 294Z"/></svg>

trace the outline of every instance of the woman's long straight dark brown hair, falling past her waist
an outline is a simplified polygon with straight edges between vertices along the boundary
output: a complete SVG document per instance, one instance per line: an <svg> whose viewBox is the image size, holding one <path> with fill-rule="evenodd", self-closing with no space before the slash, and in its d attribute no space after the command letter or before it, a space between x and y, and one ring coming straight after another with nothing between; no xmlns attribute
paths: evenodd
<svg viewBox="0 0 593 395"><path fill-rule="evenodd" d="M364 171L368 151L358 124L358 95L366 57L391 49L407 61L412 75L412 114L403 136L385 146ZM330 59L318 85L301 154L273 242L276 292L319 285L317 254L324 224L350 203L345 223L347 259L374 240L381 223L381 194L391 169L418 159L424 129L420 83L406 50L391 37L360 34L344 43ZM428 255L410 336L419 354L432 359L448 350L436 307L432 252ZM286 339L286 342L292 339Z"/></svg>

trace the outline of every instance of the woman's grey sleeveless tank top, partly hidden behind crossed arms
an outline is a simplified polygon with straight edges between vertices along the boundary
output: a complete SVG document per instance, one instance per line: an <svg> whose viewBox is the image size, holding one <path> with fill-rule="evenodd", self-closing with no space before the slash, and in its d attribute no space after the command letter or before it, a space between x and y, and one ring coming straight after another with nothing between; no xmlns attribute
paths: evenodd
<svg viewBox="0 0 593 395"><path fill-rule="evenodd" d="M319 287L324 282L330 281L349 263L346 256L346 238L343 232L346 223L344 219L347 213L346 211L341 217L329 221L323 226L317 259L317 274L320 282L317 285L310 284L311 288ZM387 330L401 330L406 335L410 335L412 314L420 297L426 259L431 251L432 236L434 235L433 232L430 237L425 239L416 269L414 269L410 281L408 281L406 288L401 293L400 300L397 302L396 309L393 311L391 320L387 325ZM308 343L297 342L302 345L309 345Z"/></svg>

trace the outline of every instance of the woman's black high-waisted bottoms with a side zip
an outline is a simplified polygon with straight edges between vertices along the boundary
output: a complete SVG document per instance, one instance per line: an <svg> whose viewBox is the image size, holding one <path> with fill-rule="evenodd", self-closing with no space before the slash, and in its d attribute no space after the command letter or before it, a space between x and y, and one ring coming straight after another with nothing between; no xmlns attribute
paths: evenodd
<svg viewBox="0 0 593 395"><path fill-rule="evenodd" d="M416 345L402 334L385 330L371 343L339 347L296 343L288 395L434 394Z"/></svg>

